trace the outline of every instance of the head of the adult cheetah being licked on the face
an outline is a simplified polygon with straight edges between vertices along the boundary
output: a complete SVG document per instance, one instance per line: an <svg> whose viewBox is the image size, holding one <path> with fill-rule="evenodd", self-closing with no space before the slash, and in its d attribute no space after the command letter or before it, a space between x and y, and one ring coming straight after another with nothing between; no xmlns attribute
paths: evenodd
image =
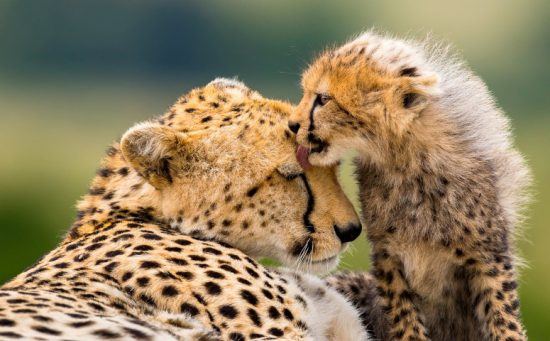
<svg viewBox="0 0 550 341"><path fill-rule="evenodd" d="M303 170L293 107L217 79L159 122L131 128L124 158L160 193L162 219L185 234L313 272L332 269L361 225L334 167Z"/></svg>

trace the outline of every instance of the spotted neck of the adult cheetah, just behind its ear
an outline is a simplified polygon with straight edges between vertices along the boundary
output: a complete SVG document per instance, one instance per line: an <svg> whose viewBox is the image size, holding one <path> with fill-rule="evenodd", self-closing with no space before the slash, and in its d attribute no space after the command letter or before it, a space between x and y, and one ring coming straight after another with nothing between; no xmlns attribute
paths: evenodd
<svg viewBox="0 0 550 341"><path fill-rule="evenodd" d="M159 192L130 167L118 144L107 150L90 189L77 204L68 239L117 220L162 221Z"/></svg>

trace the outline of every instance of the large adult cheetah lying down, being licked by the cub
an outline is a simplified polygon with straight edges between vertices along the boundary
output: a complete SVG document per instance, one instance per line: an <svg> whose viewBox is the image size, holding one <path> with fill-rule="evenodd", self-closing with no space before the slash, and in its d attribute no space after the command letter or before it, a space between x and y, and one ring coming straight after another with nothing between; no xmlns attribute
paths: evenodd
<svg viewBox="0 0 550 341"><path fill-rule="evenodd" d="M0 338L367 339L321 280L361 225L292 107L218 79L108 149L61 244L0 288Z"/></svg>

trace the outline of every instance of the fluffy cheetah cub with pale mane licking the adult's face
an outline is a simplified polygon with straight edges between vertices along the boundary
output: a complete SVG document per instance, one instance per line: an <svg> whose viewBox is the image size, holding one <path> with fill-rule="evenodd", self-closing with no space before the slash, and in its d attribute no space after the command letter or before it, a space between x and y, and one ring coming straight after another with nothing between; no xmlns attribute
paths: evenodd
<svg viewBox="0 0 550 341"><path fill-rule="evenodd" d="M301 163L358 151L389 337L525 340L513 241L530 174L483 81L441 45L368 32L322 54L302 86Z"/></svg>

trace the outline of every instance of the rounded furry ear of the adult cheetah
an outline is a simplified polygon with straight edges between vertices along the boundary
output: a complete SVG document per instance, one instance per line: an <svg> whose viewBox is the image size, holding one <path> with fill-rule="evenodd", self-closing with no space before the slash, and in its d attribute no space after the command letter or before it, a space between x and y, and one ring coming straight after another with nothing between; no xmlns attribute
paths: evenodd
<svg viewBox="0 0 550 341"><path fill-rule="evenodd" d="M144 122L130 128L120 141L126 161L153 187L172 183L181 155L192 159L192 137L157 123Z"/></svg>

